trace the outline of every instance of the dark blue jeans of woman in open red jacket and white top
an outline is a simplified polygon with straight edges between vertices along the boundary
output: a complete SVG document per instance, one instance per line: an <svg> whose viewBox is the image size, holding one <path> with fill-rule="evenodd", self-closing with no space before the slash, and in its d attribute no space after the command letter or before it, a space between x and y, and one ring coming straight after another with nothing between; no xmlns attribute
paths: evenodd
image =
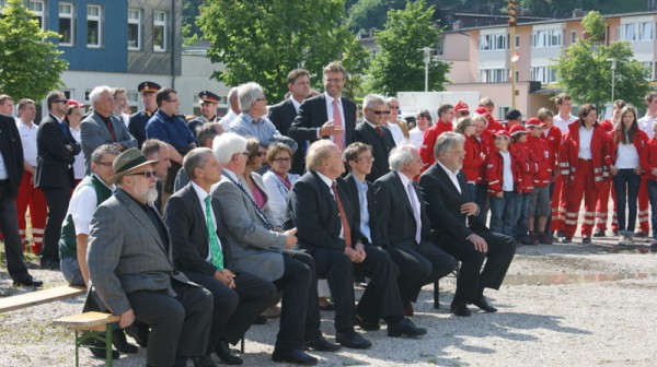
<svg viewBox="0 0 657 367"><path fill-rule="evenodd" d="M616 193L616 218L619 222L619 233L633 234L636 224L636 198L638 197L641 175L635 174L634 169L632 168L619 169L619 173L613 175L612 179ZM626 222L625 203L629 208Z"/></svg>

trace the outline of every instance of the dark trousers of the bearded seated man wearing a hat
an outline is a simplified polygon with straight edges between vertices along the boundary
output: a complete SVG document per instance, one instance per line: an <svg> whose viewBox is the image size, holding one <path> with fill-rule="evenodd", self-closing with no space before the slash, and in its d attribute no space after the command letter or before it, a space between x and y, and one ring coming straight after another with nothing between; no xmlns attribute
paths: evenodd
<svg viewBox="0 0 657 367"><path fill-rule="evenodd" d="M128 293L135 317L151 328L146 362L173 366L176 356L205 356L212 321L212 295L205 288L172 280L175 297L165 291Z"/></svg>

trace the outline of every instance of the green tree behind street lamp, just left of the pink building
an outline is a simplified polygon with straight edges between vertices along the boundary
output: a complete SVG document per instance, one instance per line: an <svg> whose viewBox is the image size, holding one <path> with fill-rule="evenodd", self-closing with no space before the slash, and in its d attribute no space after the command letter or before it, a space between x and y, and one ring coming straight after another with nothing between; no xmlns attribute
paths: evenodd
<svg viewBox="0 0 657 367"><path fill-rule="evenodd" d="M395 94L400 91L424 91L425 62L423 47L435 47L441 29L431 21L433 8L425 0L406 2L404 10L388 12L385 28L374 34L379 52L370 63L370 83L374 91ZM451 66L431 58L429 91L442 91Z"/></svg>

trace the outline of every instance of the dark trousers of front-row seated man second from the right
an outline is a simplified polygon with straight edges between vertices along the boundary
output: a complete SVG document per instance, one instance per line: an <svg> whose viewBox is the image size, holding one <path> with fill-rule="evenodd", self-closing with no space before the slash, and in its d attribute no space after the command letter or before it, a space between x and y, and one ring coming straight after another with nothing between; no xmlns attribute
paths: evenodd
<svg viewBox="0 0 657 367"><path fill-rule="evenodd" d="M397 284L403 304L416 301L425 284L434 283L457 268L451 254L424 239L418 246L391 246L385 250L400 270Z"/></svg>

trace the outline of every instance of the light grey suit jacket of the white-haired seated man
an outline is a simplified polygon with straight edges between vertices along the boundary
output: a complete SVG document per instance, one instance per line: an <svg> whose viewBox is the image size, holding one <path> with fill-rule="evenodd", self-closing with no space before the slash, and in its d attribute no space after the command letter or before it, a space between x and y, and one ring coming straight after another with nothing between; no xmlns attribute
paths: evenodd
<svg viewBox="0 0 657 367"><path fill-rule="evenodd" d="M226 175L211 190L222 246L230 248L238 270L269 282L280 279L285 270L281 251L286 236L267 228L247 193Z"/></svg>

